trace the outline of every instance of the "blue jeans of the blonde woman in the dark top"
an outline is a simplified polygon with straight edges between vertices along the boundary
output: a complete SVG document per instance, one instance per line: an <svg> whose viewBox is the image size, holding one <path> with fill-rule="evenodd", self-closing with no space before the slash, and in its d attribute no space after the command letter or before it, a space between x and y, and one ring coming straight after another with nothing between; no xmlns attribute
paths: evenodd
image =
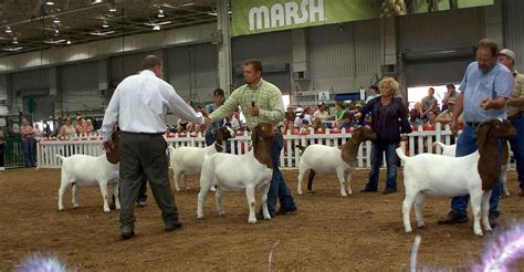
<svg viewBox="0 0 524 272"><path fill-rule="evenodd" d="M397 144L371 142L371 171L369 172L369 181L366 185L366 190L376 191L378 188L378 177L380 174L380 166L382 165L384 154L386 154L387 165L386 190L397 190L396 148Z"/></svg>

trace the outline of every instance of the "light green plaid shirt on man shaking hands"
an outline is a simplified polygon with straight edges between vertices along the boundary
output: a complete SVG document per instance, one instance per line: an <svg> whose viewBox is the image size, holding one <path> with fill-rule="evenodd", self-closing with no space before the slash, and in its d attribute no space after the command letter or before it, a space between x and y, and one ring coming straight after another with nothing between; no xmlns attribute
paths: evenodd
<svg viewBox="0 0 524 272"><path fill-rule="evenodd" d="M259 116L251 116L249 108L251 102L260 108ZM275 85L260 80L255 88L251 88L248 84L234 90L226 103L212 112L209 118L212 122L223 119L237 107L240 106L245 116L248 127L252 129L259 123L271 123L280 125L284 119L284 104L282 102L282 93Z"/></svg>

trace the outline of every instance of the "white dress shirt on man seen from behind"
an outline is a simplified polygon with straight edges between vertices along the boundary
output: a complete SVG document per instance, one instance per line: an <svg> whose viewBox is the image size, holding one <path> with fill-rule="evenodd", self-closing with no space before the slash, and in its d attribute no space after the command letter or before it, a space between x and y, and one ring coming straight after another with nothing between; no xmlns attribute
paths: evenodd
<svg viewBox="0 0 524 272"><path fill-rule="evenodd" d="M104 115L102 135L111 139L113 126L118 121L123 132L165 133L167 108L182 119L203 124L201 113L187 105L169 83L145 70L122 81L116 87Z"/></svg>

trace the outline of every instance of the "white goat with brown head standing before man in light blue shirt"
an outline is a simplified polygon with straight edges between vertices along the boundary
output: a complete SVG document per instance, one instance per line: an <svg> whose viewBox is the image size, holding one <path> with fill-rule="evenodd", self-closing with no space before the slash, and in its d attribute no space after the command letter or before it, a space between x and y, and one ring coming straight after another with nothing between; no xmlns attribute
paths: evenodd
<svg viewBox="0 0 524 272"><path fill-rule="evenodd" d="M447 157L436 154L407 157L402 148L397 148L397 155L405 161L406 199L402 205L402 213L406 232L411 232L409 212L413 203L417 227L425 226L421 213L425 195L457 197L468 193L474 217L474 233L483 234L480 226L481 210L484 229L490 231L489 200L500 174L500 165L493 159L493 156L499 154L496 138L515 135L515 129L510 123L492 119L478 127L479 150L464 157Z"/></svg>

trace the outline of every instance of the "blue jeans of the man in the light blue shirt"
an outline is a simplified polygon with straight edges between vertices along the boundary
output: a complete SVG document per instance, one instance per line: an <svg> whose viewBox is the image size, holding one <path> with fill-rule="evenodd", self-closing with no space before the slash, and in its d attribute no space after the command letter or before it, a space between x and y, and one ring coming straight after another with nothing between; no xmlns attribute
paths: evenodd
<svg viewBox="0 0 524 272"><path fill-rule="evenodd" d="M465 125L464 130L460 134L457 139L457 157L468 156L474 153L476 147L476 128L472 125ZM493 188L490 198L490 213L495 217L500 216L499 211L499 199L501 198L502 182L501 179L496 181L495 188ZM454 197L451 200L451 210L461 215L468 215L468 202L470 201L470 195Z"/></svg>

